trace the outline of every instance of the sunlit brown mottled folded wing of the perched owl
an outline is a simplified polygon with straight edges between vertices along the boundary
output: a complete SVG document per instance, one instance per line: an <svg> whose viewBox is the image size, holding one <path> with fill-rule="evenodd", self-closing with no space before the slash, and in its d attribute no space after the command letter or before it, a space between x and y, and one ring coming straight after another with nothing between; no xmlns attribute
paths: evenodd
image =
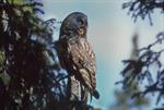
<svg viewBox="0 0 164 110"><path fill-rule="evenodd" d="M93 94L96 86L96 64L91 45L85 38L80 38L77 42L69 42L68 49L74 76Z"/></svg>

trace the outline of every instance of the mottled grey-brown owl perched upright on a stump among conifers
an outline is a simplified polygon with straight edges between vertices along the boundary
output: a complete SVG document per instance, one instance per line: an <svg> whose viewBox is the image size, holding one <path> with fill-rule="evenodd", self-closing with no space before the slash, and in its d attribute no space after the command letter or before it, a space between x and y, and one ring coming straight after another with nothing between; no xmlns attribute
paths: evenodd
<svg viewBox="0 0 164 110"><path fill-rule="evenodd" d="M81 12L69 14L60 27L58 47L61 66L71 81L71 94L80 94L86 100L87 94L99 98L96 90L95 53L87 41L87 16Z"/></svg>

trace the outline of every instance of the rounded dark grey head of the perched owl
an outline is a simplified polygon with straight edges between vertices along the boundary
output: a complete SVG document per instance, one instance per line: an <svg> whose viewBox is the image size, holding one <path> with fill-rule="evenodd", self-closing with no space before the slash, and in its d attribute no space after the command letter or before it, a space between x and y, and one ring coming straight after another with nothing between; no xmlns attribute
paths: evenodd
<svg viewBox="0 0 164 110"><path fill-rule="evenodd" d="M87 16L81 12L73 12L63 20L60 27L59 39L68 36L86 37L86 30Z"/></svg>

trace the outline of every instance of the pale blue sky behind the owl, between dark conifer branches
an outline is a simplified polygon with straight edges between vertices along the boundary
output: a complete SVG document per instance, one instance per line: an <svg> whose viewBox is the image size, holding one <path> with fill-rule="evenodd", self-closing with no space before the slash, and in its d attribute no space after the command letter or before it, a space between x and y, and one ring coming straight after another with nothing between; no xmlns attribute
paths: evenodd
<svg viewBox="0 0 164 110"><path fill-rule="evenodd" d="M121 10L124 0L42 0L44 2L45 20L55 17L62 21L71 12L83 12L89 17L87 37L92 44L97 62L97 89L101 99L92 103L107 110L114 102L115 82L120 80L121 60L129 58L131 52L131 37L137 30L140 35L140 47L153 41L157 32L164 29L164 17L153 14L154 25L149 21L136 24ZM55 39L58 38L55 34Z"/></svg>

